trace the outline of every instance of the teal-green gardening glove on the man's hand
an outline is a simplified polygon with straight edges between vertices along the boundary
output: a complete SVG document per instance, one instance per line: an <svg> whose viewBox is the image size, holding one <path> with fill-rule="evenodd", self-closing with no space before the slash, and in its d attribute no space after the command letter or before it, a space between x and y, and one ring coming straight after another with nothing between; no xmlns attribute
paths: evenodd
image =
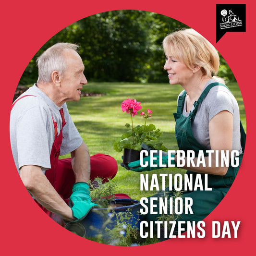
<svg viewBox="0 0 256 256"><path fill-rule="evenodd" d="M72 195L70 196L69 206L72 209L74 222L85 218L90 209L97 204L92 203L89 185L84 182L78 182L73 185Z"/></svg>

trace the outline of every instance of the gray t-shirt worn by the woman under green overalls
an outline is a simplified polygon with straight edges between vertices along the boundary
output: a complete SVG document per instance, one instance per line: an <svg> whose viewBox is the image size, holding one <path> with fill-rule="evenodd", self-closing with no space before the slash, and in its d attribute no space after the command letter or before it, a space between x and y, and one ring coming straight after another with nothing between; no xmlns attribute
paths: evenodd
<svg viewBox="0 0 256 256"><path fill-rule="evenodd" d="M217 81L210 79L205 85L205 88L215 82ZM182 91L179 96L181 96L183 92L184 91ZM238 150L239 154L242 154L239 107L236 99L225 86L217 85L212 87L201 104L199 104L195 120L192 123L194 137L202 146L211 149L209 122L215 115L223 110L227 110L233 115L232 150ZM184 102L183 115L189 116L189 112L186 112L186 101Z"/></svg>

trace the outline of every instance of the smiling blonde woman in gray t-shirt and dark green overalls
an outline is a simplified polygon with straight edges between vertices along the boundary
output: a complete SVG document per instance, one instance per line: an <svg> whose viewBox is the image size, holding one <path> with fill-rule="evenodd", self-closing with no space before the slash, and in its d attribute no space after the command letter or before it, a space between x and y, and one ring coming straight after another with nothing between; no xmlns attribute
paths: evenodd
<svg viewBox="0 0 256 256"><path fill-rule="evenodd" d="M193 199L193 206L192 211L181 214L179 220L198 222L219 204L231 187L242 161L245 133L242 125L240 131L241 122L236 99L224 85L224 81L213 76L219 70L219 55L216 49L193 29L183 29L168 35L163 41L163 49L166 55L164 69L168 73L170 84L183 87L178 96L177 113L174 113L178 147L184 152L193 150L194 162L199 151L204 152L206 159L205 167L202 164L189 167L187 162L183 166L188 170L188 174L193 175L194 182L199 174L204 183L207 174L207 187L211 190L183 191L184 197ZM210 166L207 150L213 150L215 153L220 153L220 150L237 150L239 165L221 166L219 161L216 161L220 156L212 154ZM140 167L139 161L128 166L133 171L161 168L158 158L154 163L158 164L158 167L143 168ZM168 163L168 156L163 156L162 163ZM172 189L167 188L166 195L173 196ZM159 196L163 196L163 192L153 197ZM152 215L150 212L146 215L147 220L157 220L158 217L159 214Z"/></svg>

